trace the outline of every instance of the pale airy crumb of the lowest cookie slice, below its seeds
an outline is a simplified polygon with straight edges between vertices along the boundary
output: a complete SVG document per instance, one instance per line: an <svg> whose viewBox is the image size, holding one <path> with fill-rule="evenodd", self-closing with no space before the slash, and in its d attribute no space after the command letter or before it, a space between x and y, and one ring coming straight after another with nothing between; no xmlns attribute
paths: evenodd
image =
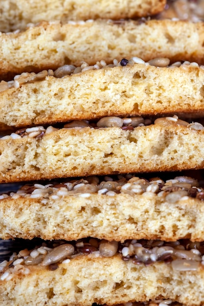
<svg viewBox="0 0 204 306"><path fill-rule="evenodd" d="M158 297L170 297L187 306L204 305L201 265L196 271L177 271L171 263L145 266L124 262L120 256L79 256L55 268L50 271L43 266L29 266L29 274L19 272L10 280L0 281L1 305L114 305Z"/></svg>

